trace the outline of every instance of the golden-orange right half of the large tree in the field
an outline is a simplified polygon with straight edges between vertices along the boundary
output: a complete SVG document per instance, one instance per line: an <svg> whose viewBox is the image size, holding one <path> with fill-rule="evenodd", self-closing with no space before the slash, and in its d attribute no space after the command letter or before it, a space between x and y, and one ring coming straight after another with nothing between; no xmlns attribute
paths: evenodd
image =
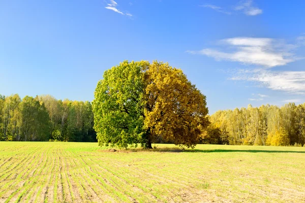
<svg viewBox="0 0 305 203"><path fill-rule="evenodd" d="M206 97L180 69L168 63L154 61L145 74L148 146L161 138L193 148L209 124Z"/></svg>

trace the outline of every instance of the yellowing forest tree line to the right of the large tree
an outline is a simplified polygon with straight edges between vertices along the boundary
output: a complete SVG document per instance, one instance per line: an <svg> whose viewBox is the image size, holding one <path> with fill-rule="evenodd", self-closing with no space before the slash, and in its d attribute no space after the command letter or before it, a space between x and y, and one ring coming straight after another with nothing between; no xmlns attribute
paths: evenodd
<svg viewBox="0 0 305 203"><path fill-rule="evenodd" d="M302 146L305 143L305 103L217 111L202 143L230 145Z"/></svg>

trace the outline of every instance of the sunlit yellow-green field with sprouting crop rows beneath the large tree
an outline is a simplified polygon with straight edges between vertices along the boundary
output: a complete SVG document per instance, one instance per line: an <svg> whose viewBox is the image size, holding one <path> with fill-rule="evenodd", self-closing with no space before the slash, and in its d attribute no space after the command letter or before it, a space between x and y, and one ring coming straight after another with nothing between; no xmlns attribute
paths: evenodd
<svg viewBox="0 0 305 203"><path fill-rule="evenodd" d="M0 142L0 202L305 201L305 147L109 149Z"/></svg>

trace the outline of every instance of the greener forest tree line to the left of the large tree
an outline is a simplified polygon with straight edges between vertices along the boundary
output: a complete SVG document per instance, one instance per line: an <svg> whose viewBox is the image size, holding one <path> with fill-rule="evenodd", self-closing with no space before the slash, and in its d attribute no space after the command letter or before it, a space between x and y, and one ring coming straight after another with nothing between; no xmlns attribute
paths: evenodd
<svg viewBox="0 0 305 203"><path fill-rule="evenodd" d="M95 142L92 105L51 95L0 95L0 141Z"/></svg>

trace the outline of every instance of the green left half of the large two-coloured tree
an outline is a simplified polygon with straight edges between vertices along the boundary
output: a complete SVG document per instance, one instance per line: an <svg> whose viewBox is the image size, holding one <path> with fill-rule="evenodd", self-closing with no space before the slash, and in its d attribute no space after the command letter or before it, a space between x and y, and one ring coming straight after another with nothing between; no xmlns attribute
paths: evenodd
<svg viewBox="0 0 305 203"><path fill-rule="evenodd" d="M99 145L145 145L143 96L148 66L147 61L124 61L105 71L98 82L93 112Z"/></svg>

